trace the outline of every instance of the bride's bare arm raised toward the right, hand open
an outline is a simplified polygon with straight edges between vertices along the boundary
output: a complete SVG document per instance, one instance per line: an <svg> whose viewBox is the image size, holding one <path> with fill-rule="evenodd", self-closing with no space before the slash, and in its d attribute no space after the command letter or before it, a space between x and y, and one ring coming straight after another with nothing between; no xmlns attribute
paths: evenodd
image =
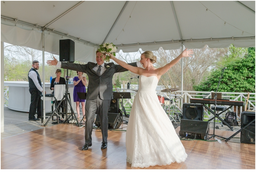
<svg viewBox="0 0 256 176"><path fill-rule="evenodd" d="M165 74L172 66L177 64L178 61L180 61L181 58L183 58L183 57L192 57L193 53L194 53L194 51L192 49L190 49L190 50L187 50L187 48L184 49L184 51L181 52L181 54L178 55L178 57L176 57L174 60L172 60L170 63L166 64L165 66L159 68L159 72L158 72L157 75Z"/></svg>

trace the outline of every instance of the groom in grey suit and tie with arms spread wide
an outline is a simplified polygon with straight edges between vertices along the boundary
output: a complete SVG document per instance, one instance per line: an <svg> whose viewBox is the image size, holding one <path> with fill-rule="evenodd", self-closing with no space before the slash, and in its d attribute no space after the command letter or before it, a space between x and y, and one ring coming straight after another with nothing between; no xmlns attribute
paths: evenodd
<svg viewBox="0 0 256 176"><path fill-rule="evenodd" d="M98 110L101 123L102 145L101 149L107 148L108 138L108 110L110 100L113 99L112 79L114 73L125 72L127 69L114 63L104 63L105 54L96 52L96 62L87 64L62 63L54 60L47 61L49 65L56 65L63 69L75 70L88 75L89 84L85 103L85 144L82 151L88 150L92 145L91 133L93 131L94 115ZM130 63L132 66L140 66L140 63Z"/></svg>

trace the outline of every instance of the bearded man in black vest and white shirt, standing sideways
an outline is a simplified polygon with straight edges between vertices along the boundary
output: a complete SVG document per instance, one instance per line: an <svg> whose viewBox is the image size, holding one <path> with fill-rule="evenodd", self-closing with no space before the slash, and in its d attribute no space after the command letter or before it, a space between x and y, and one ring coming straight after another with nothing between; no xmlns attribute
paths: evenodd
<svg viewBox="0 0 256 176"><path fill-rule="evenodd" d="M29 107L29 121L37 121L41 118L41 98L40 95L43 92L42 82L37 72L39 69L39 62L34 60L32 62L32 68L29 70L29 92L31 94L31 103ZM37 113L37 118L35 114Z"/></svg>

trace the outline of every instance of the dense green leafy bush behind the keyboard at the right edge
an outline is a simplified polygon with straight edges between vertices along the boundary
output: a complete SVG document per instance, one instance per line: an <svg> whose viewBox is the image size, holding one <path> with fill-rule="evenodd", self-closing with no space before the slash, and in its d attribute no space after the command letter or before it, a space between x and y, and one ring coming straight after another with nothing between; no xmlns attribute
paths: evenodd
<svg viewBox="0 0 256 176"><path fill-rule="evenodd" d="M228 63L219 84L219 92L255 92L255 48L240 60ZM214 70L208 79L194 86L195 91L216 91L221 69Z"/></svg>

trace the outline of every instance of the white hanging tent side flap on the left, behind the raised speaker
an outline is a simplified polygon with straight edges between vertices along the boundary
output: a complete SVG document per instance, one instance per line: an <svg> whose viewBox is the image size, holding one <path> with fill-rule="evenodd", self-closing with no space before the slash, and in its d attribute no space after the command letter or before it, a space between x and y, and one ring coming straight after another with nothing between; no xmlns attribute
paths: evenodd
<svg viewBox="0 0 256 176"><path fill-rule="evenodd" d="M58 34L45 32L44 46L45 51L59 55L59 40L69 39ZM42 33L37 29L25 30L16 26L1 24L1 41L17 46L26 46L42 51ZM82 62L96 62L97 48L75 41L75 60Z"/></svg>

